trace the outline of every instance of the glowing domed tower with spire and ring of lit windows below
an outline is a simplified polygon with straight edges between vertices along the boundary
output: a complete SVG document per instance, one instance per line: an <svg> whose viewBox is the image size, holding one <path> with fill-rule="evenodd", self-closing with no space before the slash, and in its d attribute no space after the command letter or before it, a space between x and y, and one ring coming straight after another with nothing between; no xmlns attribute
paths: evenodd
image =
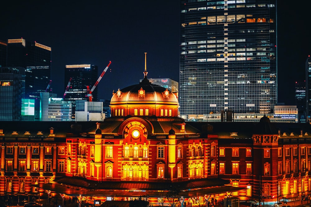
<svg viewBox="0 0 311 207"><path fill-rule="evenodd" d="M145 53L146 54L146 53ZM177 117L179 103L176 94L167 88L151 84L147 79L146 56L142 82L118 89L110 102L111 116Z"/></svg>

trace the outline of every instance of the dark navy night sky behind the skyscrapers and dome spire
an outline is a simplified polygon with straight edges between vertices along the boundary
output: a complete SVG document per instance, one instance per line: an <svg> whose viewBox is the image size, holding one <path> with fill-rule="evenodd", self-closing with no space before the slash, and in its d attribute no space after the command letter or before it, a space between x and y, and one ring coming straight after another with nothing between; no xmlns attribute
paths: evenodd
<svg viewBox="0 0 311 207"><path fill-rule="evenodd" d="M100 99L148 78L179 81L179 4L166 1L7 1L1 3L0 40L24 38L52 48L52 88L62 97L69 64L98 65ZM70 3L69 3L70 2ZM279 3L280 2L280 3ZM278 1L279 102L293 105L295 81L304 81L311 54L307 35L311 2Z"/></svg>

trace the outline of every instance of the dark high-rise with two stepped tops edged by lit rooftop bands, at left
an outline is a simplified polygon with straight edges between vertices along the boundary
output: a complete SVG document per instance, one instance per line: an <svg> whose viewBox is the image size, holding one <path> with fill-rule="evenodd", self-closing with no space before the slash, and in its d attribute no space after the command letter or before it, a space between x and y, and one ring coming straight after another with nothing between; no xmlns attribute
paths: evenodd
<svg viewBox="0 0 311 207"><path fill-rule="evenodd" d="M25 68L26 98L39 97L51 79L51 47L23 38L8 39L7 66Z"/></svg>

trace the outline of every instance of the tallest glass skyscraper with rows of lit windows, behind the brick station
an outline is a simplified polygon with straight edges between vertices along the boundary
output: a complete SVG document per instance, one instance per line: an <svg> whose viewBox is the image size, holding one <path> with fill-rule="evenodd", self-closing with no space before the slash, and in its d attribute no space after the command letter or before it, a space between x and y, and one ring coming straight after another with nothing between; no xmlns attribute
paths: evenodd
<svg viewBox="0 0 311 207"><path fill-rule="evenodd" d="M180 115L272 113L276 0L181 1Z"/></svg>

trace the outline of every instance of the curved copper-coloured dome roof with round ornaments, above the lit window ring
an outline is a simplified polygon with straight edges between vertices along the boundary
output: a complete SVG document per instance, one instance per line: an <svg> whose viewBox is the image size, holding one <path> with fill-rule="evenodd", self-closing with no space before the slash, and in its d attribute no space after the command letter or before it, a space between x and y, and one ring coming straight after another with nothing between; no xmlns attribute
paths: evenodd
<svg viewBox="0 0 311 207"><path fill-rule="evenodd" d="M174 93L170 92L166 88L151 84L147 79L147 76L139 84L128 86L123 89L119 89L111 98L110 104L122 104L123 103L139 103L154 101L170 102L169 104L178 105L178 99Z"/></svg>

